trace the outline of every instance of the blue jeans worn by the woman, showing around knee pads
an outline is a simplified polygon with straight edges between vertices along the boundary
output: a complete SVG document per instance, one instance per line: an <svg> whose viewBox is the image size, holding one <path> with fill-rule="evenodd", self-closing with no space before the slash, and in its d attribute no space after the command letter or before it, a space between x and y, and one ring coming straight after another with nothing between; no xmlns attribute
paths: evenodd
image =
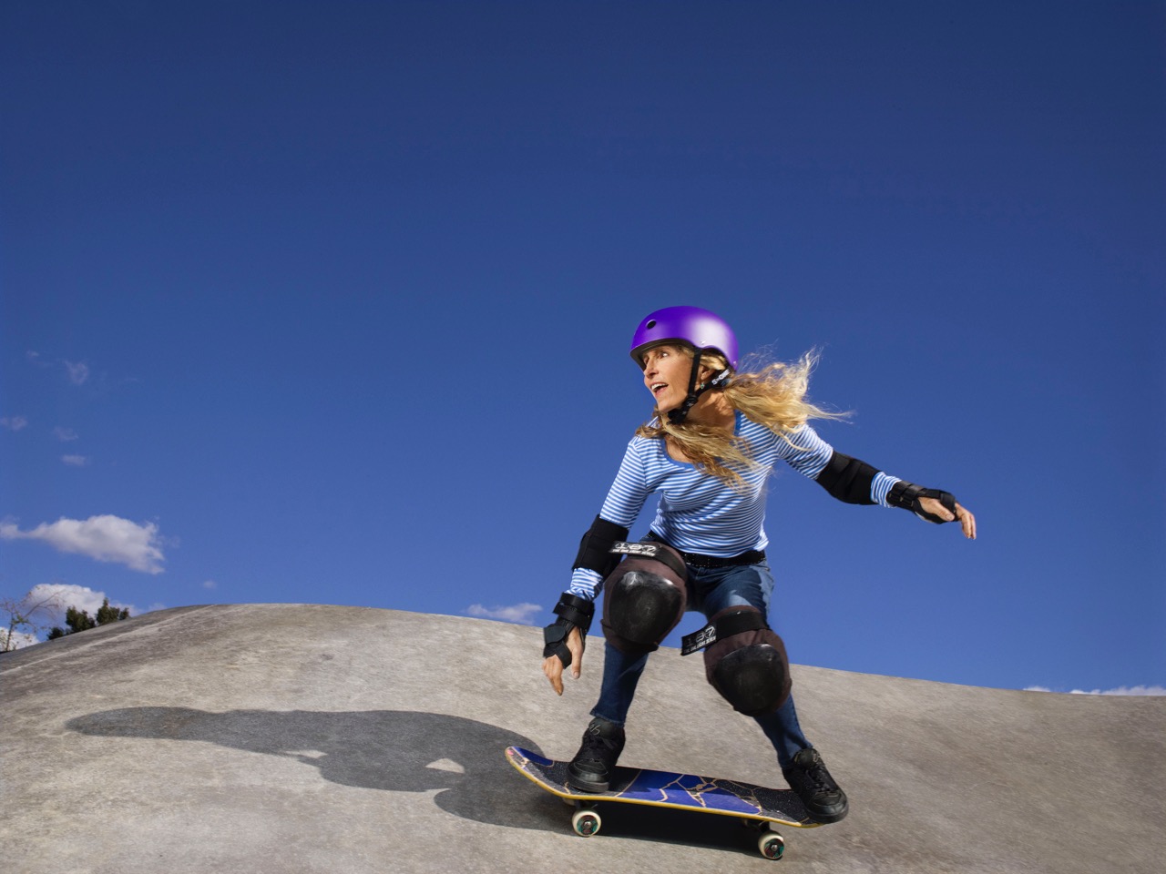
<svg viewBox="0 0 1166 874"><path fill-rule="evenodd" d="M770 595L773 593L773 573L770 565L742 564L730 568L694 568L688 565L688 609L700 611L705 618L728 607L750 606L768 615ZM635 685L647 665L648 654L630 656L611 643L604 648L603 684L599 700L591 716L616 725L624 725L632 706ZM798 724L793 696L773 713L754 717L778 753L778 764L787 768L794 755L810 746Z"/></svg>

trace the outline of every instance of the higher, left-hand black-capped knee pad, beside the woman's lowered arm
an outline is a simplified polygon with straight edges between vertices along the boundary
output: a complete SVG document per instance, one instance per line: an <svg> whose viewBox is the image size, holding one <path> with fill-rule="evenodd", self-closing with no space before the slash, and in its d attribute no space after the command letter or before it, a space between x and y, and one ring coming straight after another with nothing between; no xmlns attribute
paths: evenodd
<svg viewBox="0 0 1166 874"><path fill-rule="evenodd" d="M638 545L638 544L637 544ZM660 549L670 549L660 544ZM684 614L683 559L630 555L603 584L603 633L620 653L651 653Z"/></svg>

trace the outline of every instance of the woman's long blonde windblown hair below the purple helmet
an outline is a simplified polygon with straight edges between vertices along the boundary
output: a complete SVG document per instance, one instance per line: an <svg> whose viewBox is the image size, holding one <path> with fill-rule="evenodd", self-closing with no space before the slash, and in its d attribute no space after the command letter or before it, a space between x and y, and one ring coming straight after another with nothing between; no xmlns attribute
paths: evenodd
<svg viewBox="0 0 1166 874"><path fill-rule="evenodd" d="M684 355L691 359L695 350L691 346L676 344ZM765 364L761 355L751 357L747 369L733 374L722 388L710 392L719 393L732 409L742 413L745 418L765 425L789 445L798 446L789 435L806 424L810 418L844 418L845 413L829 413L807 400L809 374L817 364L817 353L807 352L798 361L785 364L771 361ZM717 352L702 352L701 365L711 367L719 373L729 366L724 355ZM728 482L733 488L743 488L744 471L759 466L749 453L749 446L733 432L712 428L690 420L673 424L667 415L654 411L654 418L635 429L639 437L662 437L670 440L683 452L693 464L703 467L709 473Z"/></svg>

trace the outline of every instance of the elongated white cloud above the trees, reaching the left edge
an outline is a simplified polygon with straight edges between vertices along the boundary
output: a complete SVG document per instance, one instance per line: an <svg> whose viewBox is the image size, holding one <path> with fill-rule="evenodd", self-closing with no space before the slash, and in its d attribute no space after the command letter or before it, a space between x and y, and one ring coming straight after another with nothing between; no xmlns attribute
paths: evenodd
<svg viewBox="0 0 1166 874"><path fill-rule="evenodd" d="M12 522L0 522L0 540L42 541L62 552L89 556L98 562L124 564L143 573L161 573L162 555L157 526L138 524L118 516L90 516L86 520L58 519L29 531Z"/></svg>

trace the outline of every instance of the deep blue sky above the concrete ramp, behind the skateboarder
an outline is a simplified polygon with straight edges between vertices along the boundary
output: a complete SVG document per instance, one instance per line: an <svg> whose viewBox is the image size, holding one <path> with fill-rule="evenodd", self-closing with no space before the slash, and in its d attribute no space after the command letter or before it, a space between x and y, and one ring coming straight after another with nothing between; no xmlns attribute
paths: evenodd
<svg viewBox="0 0 1166 874"><path fill-rule="evenodd" d="M9 0L0 594L543 625L651 408L632 331L693 304L977 515L779 473L795 662L1160 688L1164 24Z"/></svg>

